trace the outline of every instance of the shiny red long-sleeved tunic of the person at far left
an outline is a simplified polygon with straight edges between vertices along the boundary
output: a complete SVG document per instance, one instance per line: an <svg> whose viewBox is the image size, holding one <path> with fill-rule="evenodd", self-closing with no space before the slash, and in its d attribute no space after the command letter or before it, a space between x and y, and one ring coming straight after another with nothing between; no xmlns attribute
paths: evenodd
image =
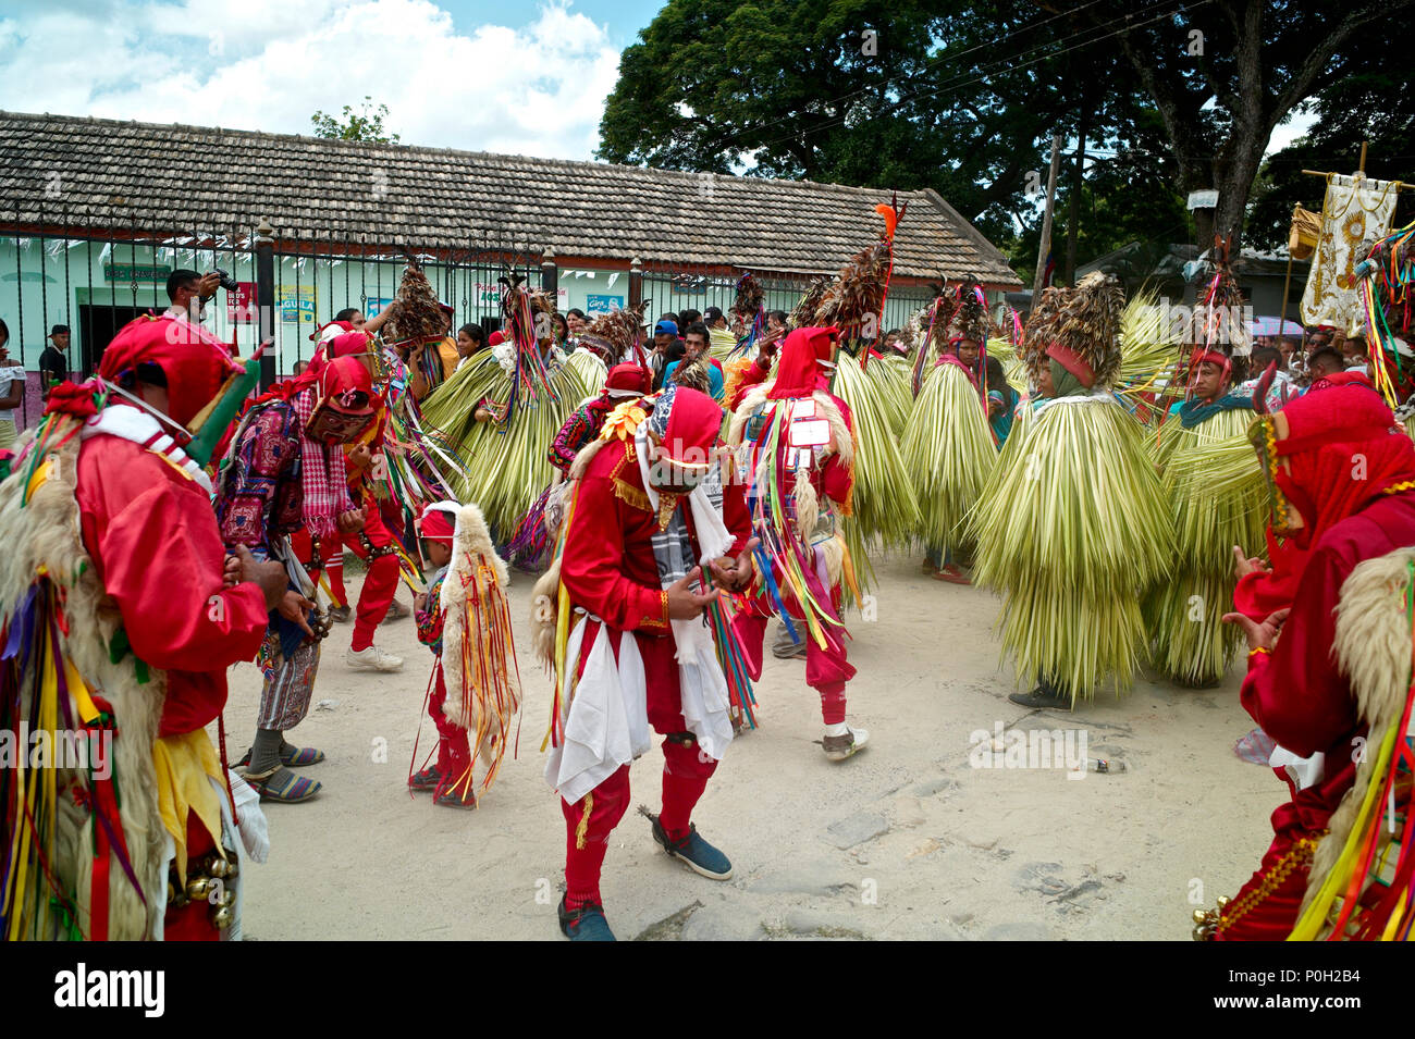
<svg viewBox="0 0 1415 1039"><path fill-rule="evenodd" d="M158 735L198 729L226 703L226 669L260 649L265 595L250 582L222 585L211 499L171 464L99 435L83 441L78 468L83 547L133 653L167 671Z"/></svg>

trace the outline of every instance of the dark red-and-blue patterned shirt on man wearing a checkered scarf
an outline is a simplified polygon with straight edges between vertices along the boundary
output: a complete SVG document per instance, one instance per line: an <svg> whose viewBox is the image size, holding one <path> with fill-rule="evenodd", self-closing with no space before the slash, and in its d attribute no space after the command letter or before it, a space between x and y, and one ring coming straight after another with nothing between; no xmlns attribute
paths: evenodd
<svg viewBox="0 0 1415 1039"><path fill-rule="evenodd" d="M228 547L243 544L259 560L272 544L300 529L300 428L294 407L263 404L241 431L231 469L216 489L216 523Z"/></svg>

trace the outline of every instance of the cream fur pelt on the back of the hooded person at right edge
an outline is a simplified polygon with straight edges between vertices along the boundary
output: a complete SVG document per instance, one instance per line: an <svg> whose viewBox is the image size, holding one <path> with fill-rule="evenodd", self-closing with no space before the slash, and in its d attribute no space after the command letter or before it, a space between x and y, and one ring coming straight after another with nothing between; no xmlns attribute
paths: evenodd
<svg viewBox="0 0 1415 1039"><path fill-rule="evenodd" d="M1351 683L1357 717L1367 724L1364 759L1356 782L1341 797L1312 857L1302 909L1312 903L1351 837L1351 827L1371 785L1378 748L1405 711L1411 679L1411 632L1405 619L1405 592L1415 548L1397 548L1365 560L1341 585L1337 604L1333 654Z"/></svg>

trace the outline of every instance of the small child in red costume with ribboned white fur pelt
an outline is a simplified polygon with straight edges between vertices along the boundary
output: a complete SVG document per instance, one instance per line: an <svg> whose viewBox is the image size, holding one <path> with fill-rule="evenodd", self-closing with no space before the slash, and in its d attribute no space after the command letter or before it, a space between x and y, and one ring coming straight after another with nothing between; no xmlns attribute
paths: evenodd
<svg viewBox="0 0 1415 1039"><path fill-rule="evenodd" d="M410 776L408 786L432 790L436 804L474 809L471 748L487 766L481 785L485 790L497 777L511 720L521 705L504 591L507 564L497 556L487 522L474 505L429 505L419 534L423 558L437 568L427 591L413 599L417 640L436 657L427 714L437 725L437 763ZM468 731L474 739L468 739Z"/></svg>

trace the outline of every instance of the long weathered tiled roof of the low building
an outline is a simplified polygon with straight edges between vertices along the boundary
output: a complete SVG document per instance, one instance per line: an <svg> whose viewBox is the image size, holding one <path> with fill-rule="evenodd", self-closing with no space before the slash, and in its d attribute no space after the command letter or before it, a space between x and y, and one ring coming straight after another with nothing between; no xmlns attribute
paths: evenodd
<svg viewBox="0 0 1415 1039"><path fill-rule="evenodd" d="M880 228L889 192L248 130L0 112L0 222L201 230L267 216L284 237L457 249L514 235L558 256L753 270L836 270ZM894 269L1020 284L932 191Z"/></svg>

